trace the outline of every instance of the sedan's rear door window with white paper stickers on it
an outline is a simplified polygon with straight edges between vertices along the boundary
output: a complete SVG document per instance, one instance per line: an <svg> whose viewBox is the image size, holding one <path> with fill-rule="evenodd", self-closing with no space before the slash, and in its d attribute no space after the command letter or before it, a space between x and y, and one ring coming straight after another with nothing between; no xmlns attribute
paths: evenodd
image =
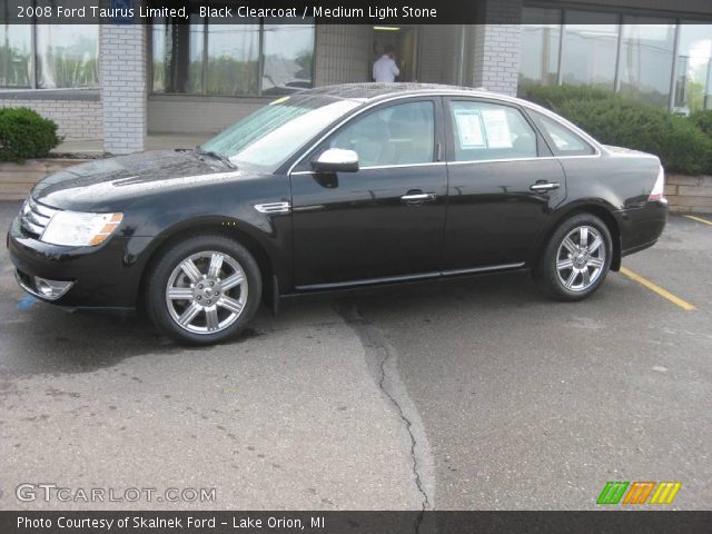
<svg viewBox="0 0 712 534"><path fill-rule="evenodd" d="M536 134L522 112L490 102L449 102L455 161L536 158Z"/></svg>

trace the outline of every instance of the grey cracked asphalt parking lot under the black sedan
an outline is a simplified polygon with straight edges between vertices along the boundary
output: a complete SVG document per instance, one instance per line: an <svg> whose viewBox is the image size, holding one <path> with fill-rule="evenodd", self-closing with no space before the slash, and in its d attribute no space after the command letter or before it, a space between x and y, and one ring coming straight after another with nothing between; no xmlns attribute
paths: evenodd
<svg viewBox="0 0 712 534"><path fill-rule="evenodd" d="M673 217L624 260L694 312L622 274L578 304L492 276L286 301L200 349L28 298L3 247L0 510L580 510L615 479L709 508L711 245ZM23 502L23 483L216 493Z"/></svg>

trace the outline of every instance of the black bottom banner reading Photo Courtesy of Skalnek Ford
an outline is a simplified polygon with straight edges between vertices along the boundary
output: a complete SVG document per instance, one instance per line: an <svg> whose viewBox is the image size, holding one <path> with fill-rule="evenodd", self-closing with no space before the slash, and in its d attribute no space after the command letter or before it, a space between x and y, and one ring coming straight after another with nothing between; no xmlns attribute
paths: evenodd
<svg viewBox="0 0 712 534"><path fill-rule="evenodd" d="M708 533L712 512L0 512L0 532L47 534Z"/></svg>

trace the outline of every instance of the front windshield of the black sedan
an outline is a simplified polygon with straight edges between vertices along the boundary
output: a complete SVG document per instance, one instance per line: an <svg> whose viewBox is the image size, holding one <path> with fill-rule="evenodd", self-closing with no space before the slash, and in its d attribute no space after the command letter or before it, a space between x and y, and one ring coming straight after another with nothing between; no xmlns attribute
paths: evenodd
<svg viewBox="0 0 712 534"><path fill-rule="evenodd" d="M218 134L200 148L238 167L275 169L328 125L359 106L324 96L284 97Z"/></svg>

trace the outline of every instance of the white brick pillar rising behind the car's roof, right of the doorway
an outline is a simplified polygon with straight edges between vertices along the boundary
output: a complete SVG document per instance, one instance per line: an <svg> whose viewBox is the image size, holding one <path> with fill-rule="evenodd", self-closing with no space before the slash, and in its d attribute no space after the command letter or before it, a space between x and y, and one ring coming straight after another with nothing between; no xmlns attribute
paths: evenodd
<svg viewBox="0 0 712 534"><path fill-rule="evenodd" d="M472 86L516 96L522 0L486 0L474 27Z"/></svg>

